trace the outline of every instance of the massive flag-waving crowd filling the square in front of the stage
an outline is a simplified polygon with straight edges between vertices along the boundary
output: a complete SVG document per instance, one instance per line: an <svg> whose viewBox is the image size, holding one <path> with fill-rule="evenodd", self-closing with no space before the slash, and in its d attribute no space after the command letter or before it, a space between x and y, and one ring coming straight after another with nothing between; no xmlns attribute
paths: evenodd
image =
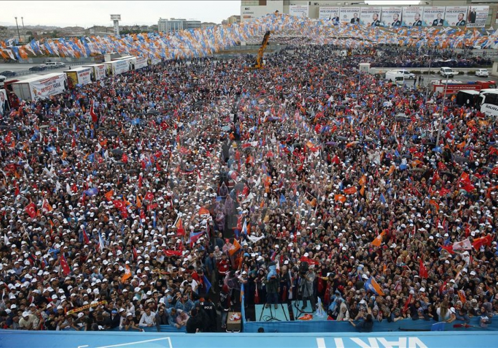
<svg viewBox="0 0 498 348"><path fill-rule="evenodd" d="M495 120L332 49L164 62L11 110L1 327L212 332L242 284L337 321L491 319Z"/></svg>

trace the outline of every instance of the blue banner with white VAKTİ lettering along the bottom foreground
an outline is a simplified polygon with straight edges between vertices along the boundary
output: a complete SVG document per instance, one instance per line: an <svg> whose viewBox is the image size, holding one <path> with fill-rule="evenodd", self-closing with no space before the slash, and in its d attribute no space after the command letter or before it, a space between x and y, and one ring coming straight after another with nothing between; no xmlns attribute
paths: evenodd
<svg viewBox="0 0 498 348"><path fill-rule="evenodd" d="M152 332L28 332L2 330L0 348L496 348L498 332L369 334L161 334Z"/></svg>

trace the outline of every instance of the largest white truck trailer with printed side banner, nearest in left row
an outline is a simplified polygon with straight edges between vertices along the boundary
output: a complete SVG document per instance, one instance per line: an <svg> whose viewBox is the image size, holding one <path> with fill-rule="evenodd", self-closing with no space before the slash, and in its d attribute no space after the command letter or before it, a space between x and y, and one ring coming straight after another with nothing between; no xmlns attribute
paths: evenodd
<svg viewBox="0 0 498 348"><path fill-rule="evenodd" d="M25 101L37 101L53 95L59 95L68 90L68 80L65 73L51 73L14 82L12 92Z"/></svg>

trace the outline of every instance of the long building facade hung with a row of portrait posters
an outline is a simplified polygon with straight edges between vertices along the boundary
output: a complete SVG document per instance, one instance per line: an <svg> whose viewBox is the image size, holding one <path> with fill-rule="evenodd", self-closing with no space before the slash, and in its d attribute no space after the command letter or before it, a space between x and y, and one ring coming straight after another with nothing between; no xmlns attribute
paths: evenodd
<svg viewBox="0 0 498 348"><path fill-rule="evenodd" d="M240 20L251 21L276 11L311 19L335 18L339 23L374 23L384 27L424 27L433 23L467 27L498 25L498 0L421 0L419 5L397 6L368 5L363 0L241 0Z"/></svg>

